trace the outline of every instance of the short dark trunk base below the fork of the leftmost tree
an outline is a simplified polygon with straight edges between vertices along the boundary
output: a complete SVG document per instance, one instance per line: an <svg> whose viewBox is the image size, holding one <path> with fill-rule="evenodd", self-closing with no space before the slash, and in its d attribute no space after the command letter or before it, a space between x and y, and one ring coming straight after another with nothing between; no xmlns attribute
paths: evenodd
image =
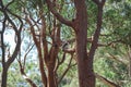
<svg viewBox="0 0 131 87"><path fill-rule="evenodd" d="M3 70L2 70L1 87L7 87L7 80L8 80L8 69L4 66Z"/></svg>

